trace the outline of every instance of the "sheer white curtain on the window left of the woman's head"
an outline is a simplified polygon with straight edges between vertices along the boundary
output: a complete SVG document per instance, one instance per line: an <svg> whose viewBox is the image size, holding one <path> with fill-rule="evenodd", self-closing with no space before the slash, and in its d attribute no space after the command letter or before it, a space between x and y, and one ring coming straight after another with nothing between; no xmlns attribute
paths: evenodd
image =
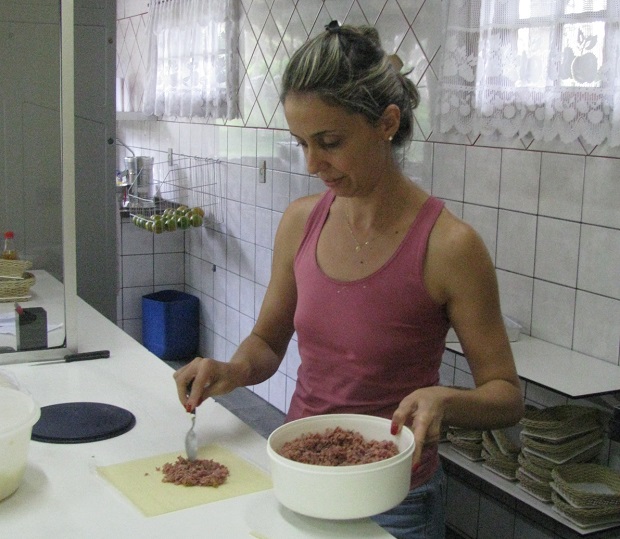
<svg viewBox="0 0 620 539"><path fill-rule="evenodd" d="M152 0L143 112L239 116L238 0Z"/></svg>

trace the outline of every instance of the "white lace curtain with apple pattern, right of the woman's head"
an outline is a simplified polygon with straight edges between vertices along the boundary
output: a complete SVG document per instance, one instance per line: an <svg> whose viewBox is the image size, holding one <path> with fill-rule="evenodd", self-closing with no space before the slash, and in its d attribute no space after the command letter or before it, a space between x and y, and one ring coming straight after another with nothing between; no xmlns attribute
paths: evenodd
<svg viewBox="0 0 620 539"><path fill-rule="evenodd" d="M620 145L620 0L450 0L436 128Z"/></svg>

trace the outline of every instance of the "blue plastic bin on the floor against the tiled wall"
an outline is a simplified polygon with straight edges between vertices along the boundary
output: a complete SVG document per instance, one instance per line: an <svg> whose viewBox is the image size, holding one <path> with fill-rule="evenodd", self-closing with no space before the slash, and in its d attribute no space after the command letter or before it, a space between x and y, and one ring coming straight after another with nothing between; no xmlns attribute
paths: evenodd
<svg viewBox="0 0 620 539"><path fill-rule="evenodd" d="M193 359L199 329L197 297L176 290L142 296L142 344L160 359Z"/></svg>

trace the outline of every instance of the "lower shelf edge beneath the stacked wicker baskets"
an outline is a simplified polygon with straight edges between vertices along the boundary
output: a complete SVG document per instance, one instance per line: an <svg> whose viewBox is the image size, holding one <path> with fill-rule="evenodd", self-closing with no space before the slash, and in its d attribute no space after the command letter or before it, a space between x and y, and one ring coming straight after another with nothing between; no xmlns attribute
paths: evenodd
<svg viewBox="0 0 620 539"><path fill-rule="evenodd" d="M455 464L459 468L463 468L468 472L472 473L476 477L482 479L483 481L490 483L491 485L499 488L501 491L505 492L512 498L523 502L524 504L532 507L533 509L543 513L547 517L559 522L563 526L570 528L571 530L577 532L579 535L588 536L596 532L611 530L613 528L620 527L620 524L607 524L604 526L591 526L589 528L582 528L577 526L567 518L564 518L562 515L557 513L553 509L553 504L545 503L534 496L528 494L523 489L518 486L516 481L508 481L507 479L501 478L499 475L483 468L482 463L473 462L457 451L455 451L449 443L441 443L439 444L439 454L442 458L450 461Z"/></svg>

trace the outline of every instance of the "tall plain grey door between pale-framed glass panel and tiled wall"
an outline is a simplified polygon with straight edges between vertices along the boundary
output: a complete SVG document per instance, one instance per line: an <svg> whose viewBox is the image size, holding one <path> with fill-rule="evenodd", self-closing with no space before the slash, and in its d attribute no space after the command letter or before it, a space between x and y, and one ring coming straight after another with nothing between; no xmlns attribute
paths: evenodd
<svg viewBox="0 0 620 539"><path fill-rule="evenodd" d="M75 2L78 295L116 322L116 2Z"/></svg>

